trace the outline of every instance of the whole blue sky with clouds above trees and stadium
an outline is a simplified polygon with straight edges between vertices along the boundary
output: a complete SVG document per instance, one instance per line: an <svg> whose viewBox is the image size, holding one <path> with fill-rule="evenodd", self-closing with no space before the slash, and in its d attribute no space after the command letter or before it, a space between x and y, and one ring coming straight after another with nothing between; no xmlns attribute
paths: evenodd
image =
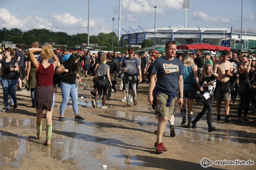
<svg viewBox="0 0 256 170"><path fill-rule="evenodd" d="M49 29L87 33L89 0L0 0L0 29ZM156 12L155 8L156 6ZM121 0L120 34L159 27L185 27L183 0ZM186 27L256 29L256 0L190 0ZM156 17L155 17L156 15ZM89 35L118 31L119 0L90 0ZM156 22L155 22L156 19ZM117 31L115 31L117 33ZM117 33L118 34L118 33Z"/></svg>

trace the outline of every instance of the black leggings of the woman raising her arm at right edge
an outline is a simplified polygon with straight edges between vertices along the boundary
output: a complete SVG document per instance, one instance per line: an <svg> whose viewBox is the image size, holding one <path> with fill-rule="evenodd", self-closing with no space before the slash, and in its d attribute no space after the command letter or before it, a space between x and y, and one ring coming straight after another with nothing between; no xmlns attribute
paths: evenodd
<svg viewBox="0 0 256 170"><path fill-rule="evenodd" d="M237 115L238 118L241 118L242 111L244 108L244 116L247 116L248 109L250 106L250 101L251 101L251 89L248 87L245 87L240 93L240 105L238 107Z"/></svg>

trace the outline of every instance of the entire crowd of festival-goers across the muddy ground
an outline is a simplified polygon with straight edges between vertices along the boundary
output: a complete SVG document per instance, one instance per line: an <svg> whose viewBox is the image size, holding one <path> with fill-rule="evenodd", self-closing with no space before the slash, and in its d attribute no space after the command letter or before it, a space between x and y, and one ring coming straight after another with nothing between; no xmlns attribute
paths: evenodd
<svg viewBox="0 0 256 170"><path fill-rule="evenodd" d="M233 103L240 96L237 121L250 122L248 111L256 112L255 102L255 55L239 55L232 51L223 50L221 56L213 56L201 49L196 53L186 55L176 54L176 42L168 41L165 46L165 55L152 51L139 54L132 48L120 54L113 52L90 53L72 52L64 49L63 52L53 50L52 43L40 47L38 42L31 43L27 52L22 51L22 45L17 48L5 48L0 51L0 75L3 88L5 107L8 111L8 96L11 107L17 109L16 91L24 87L30 91L32 108L37 113L37 138L41 138L43 110L46 110L46 141L51 144L52 111L55 102L55 90L61 88L62 103L60 106L59 121L66 122L64 111L72 100L74 120L84 120L78 112L78 91L76 82L81 84L80 75L92 76L94 90L91 91L94 99L92 107L96 108L96 101L102 95L102 109L108 108L106 100L111 100L111 93L117 89L123 91L123 107L138 105L137 89L140 83L149 82L148 102L155 109L158 119L157 153L167 151L162 137L167 121L170 124L170 136L175 136L174 114L176 101L180 105L182 121L180 127L196 128L197 122L207 113L208 132L216 127L212 125L212 102L216 100L217 121L221 121L221 102L224 101L225 118L230 122L229 102ZM80 72L80 75L79 75ZM120 78L120 86L117 85ZM26 83L24 80L26 79ZM17 87L17 89L16 89ZM250 96L250 97L248 97ZM202 103L202 110L193 120L193 103ZM186 106L187 103L187 106ZM251 107L250 107L251 104ZM244 110L242 118L242 110ZM186 124L187 123L187 124Z"/></svg>

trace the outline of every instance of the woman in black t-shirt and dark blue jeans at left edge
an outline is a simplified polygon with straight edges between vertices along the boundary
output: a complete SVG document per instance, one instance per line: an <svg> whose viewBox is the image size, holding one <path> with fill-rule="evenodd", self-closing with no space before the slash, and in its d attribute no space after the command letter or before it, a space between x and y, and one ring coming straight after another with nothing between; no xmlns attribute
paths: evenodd
<svg viewBox="0 0 256 170"><path fill-rule="evenodd" d="M2 112L8 111L8 94L13 99L13 109L17 109L17 98L15 94L15 88L17 84L16 71L19 70L18 62L14 57L11 57L11 48L5 48L3 52L5 58L1 60L0 76L1 83L4 92L4 104L5 107Z"/></svg>

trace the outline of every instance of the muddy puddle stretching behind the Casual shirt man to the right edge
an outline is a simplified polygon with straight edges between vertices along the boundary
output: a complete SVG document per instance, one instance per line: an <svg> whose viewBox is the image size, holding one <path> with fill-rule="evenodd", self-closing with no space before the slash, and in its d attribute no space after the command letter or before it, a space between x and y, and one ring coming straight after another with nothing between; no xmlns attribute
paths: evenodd
<svg viewBox="0 0 256 170"><path fill-rule="evenodd" d="M144 108L145 109L145 108ZM150 108L149 108L150 109ZM147 110L147 109L145 109ZM177 110L180 110L177 108ZM157 120L154 118L149 118L147 116L132 116L130 112L123 111L105 111L105 114L110 116L116 116L120 118L129 119L135 123L153 125L152 127L138 127L139 129L148 129L154 132L157 130ZM224 112L224 109L223 109ZM151 109L151 113L155 115L154 111ZM195 115L194 115L195 116ZM205 117L205 116L204 116ZM213 118L214 120L215 118ZM218 121L213 121L213 126L217 128L215 132L208 133L208 125L206 120L200 120L197 123L196 129L186 129L181 128L179 122L182 121L180 113L175 114L175 133L177 138L181 135L191 136L190 142L197 144L198 142L222 142L228 145L233 145L236 147L246 148L251 154L256 155L256 140L253 138L248 138L244 135L245 132L239 130L227 130L225 123L219 123ZM168 123L167 123L168 124ZM170 134L170 125L166 126L166 136ZM250 136L247 134L247 136Z"/></svg>

